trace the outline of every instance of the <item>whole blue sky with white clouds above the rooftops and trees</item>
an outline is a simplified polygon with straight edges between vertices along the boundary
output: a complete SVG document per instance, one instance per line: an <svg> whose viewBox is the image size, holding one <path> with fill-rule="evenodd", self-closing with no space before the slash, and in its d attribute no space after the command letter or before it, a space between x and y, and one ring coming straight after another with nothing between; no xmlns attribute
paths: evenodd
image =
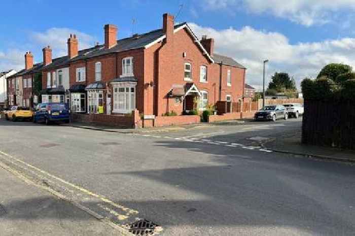
<svg viewBox="0 0 355 236"><path fill-rule="evenodd" d="M41 62L47 45L66 55L70 33L84 49L103 42L104 24L116 24L119 39L161 28L163 13L214 38L215 52L243 64L257 89L265 59L267 83L286 72L298 86L328 63L355 65L355 0L3 0L2 9L0 71L23 69L26 51Z"/></svg>

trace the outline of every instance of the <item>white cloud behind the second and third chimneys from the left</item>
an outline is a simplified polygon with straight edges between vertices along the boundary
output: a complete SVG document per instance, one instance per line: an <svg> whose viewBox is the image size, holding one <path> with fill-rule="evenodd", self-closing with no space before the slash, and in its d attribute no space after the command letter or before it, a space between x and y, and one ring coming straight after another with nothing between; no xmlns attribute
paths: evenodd
<svg viewBox="0 0 355 236"><path fill-rule="evenodd" d="M75 33L79 40L79 49L89 48L94 46L95 38L70 28L49 28L45 32L32 32L30 34L31 40L43 48L50 45L53 50L53 56L67 55L67 39L70 33Z"/></svg>

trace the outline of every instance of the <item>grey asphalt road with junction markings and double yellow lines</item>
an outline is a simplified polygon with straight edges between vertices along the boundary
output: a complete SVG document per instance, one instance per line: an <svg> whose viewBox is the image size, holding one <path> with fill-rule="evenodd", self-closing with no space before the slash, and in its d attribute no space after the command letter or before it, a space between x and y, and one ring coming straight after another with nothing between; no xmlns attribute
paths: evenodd
<svg viewBox="0 0 355 236"><path fill-rule="evenodd" d="M26 165L28 175L43 175L122 224L152 220L160 235L354 235L354 166L251 146L250 138L300 126L221 123L123 134L1 120L0 161Z"/></svg>

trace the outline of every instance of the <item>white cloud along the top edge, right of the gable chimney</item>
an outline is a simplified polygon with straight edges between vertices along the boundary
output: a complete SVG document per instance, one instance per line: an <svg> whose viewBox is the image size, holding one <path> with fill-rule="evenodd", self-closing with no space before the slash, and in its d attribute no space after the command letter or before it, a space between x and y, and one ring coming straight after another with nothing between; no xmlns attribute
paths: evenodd
<svg viewBox="0 0 355 236"><path fill-rule="evenodd" d="M243 6L252 13L270 13L276 17L310 26L334 20L340 10L355 10L354 0L204 0L208 10L237 9Z"/></svg>

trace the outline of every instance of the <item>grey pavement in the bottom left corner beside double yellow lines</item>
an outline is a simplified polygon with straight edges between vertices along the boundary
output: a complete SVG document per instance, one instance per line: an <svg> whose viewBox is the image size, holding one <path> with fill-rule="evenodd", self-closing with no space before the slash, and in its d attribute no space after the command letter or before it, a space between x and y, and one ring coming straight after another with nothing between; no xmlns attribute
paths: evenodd
<svg viewBox="0 0 355 236"><path fill-rule="evenodd" d="M123 235L68 201L13 174L0 167L2 236Z"/></svg>

